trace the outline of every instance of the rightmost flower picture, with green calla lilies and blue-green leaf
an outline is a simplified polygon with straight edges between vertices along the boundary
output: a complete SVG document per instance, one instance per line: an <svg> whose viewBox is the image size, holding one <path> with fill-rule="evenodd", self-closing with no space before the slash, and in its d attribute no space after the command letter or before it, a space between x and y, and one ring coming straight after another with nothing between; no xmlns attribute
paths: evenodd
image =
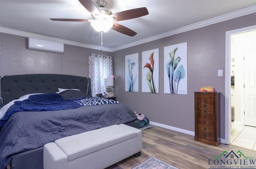
<svg viewBox="0 0 256 169"><path fill-rule="evenodd" d="M187 43L164 47L164 93L187 94Z"/></svg>

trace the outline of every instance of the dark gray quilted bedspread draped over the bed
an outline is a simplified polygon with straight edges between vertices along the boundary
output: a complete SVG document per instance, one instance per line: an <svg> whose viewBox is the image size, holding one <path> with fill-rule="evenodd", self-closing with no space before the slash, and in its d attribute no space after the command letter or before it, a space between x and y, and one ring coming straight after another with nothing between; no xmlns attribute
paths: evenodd
<svg viewBox="0 0 256 169"><path fill-rule="evenodd" d="M0 132L0 169L12 155L74 134L125 124L137 117L125 104L103 104L41 112L17 112Z"/></svg>

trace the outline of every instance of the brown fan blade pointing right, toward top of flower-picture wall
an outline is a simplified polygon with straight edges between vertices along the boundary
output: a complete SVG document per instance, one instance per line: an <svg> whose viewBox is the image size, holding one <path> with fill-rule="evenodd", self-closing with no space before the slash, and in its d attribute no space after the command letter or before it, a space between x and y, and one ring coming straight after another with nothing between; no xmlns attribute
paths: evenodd
<svg viewBox="0 0 256 169"><path fill-rule="evenodd" d="M148 10L146 7L143 8L135 8L132 10L126 10L126 11L122 11L122 12L117 12L115 14L110 15L111 17L116 18L116 21L123 21L123 20L130 20L133 18L138 18L141 16L145 16L148 15Z"/></svg>

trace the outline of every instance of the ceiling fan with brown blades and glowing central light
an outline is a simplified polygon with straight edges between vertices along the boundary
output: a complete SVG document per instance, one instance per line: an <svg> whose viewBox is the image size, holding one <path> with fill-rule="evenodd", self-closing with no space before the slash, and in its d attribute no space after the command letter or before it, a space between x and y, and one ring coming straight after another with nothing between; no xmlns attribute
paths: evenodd
<svg viewBox="0 0 256 169"><path fill-rule="evenodd" d="M71 21L71 22L91 22L91 25L94 29L90 32L90 37L95 37L99 32L106 32L109 29L113 29L120 33L123 33L128 36L134 36L137 33L125 26L122 26L116 21L130 20L138 18L141 16L148 15L148 10L146 7L135 8L131 10L125 10L122 12L117 12L112 14L111 10L108 10L106 7L107 2L105 0L98 0L96 3L98 8L94 5L91 0L79 0L79 2L88 10L94 19L58 19L50 18L53 21Z"/></svg>

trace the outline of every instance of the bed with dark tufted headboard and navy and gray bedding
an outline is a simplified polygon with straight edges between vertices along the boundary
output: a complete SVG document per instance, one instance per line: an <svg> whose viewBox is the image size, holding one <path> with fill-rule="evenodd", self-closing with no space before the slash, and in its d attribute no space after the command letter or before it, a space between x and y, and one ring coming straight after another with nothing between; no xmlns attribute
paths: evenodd
<svg viewBox="0 0 256 169"><path fill-rule="evenodd" d="M11 169L43 169L43 145L62 137L114 124L138 127L137 116L122 103L105 98L106 100L100 100L102 104L99 105L81 105L80 99L84 102L92 98L90 78L87 77L58 74L11 75L1 77L0 86L3 106L26 96L23 101L16 101L8 112L14 106L27 108L17 109L1 126L0 169L5 169L7 164L7 168ZM34 109L34 103L32 106L27 104L28 100L46 100L46 96L50 99L53 96L54 99L61 97L63 101L72 102L72 106L74 100L79 100L80 106L55 110L58 106L41 105L38 111L38 108ZM65 102L64 105L66 104Z"/></svg>

